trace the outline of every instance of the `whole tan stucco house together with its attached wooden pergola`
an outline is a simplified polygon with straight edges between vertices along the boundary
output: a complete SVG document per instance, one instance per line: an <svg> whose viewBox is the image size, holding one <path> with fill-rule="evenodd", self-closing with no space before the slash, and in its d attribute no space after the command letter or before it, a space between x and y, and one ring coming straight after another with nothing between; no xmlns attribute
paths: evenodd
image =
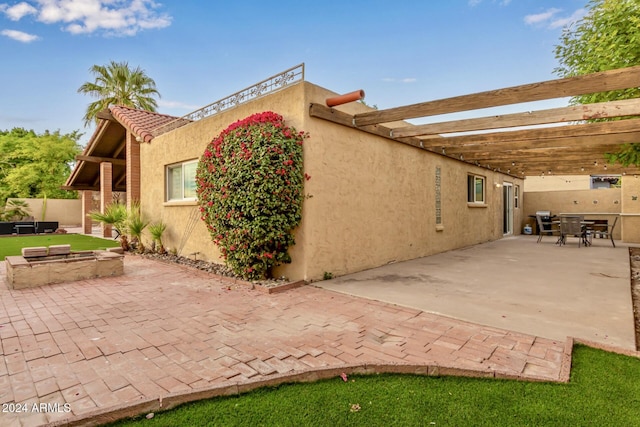
<svg viewBox="0 0 640 427"><path fill-rule="evenodd" d="M613 144L637 141L640 124L631 119L486 131L603 114L640 115L640 102L426 125L403 120L638 86L636 68L377 111L359 102L329 108L327 99L337 94L305 81L302 65L182 118L110 107L66 188L82 192L85 210L95 191L103 206L112 191L126 191L128 203L139 200L146 218L167 224L167 247L222 262L195 199L198 159L231 123L273 111L287 125L309 133L304 171L311 176L305 183L310 197L290 248L292 263L274 273L307 281L322 279L325 272L343 275L519 234L526 220L522 190L527 175L547 169L596 173L592 159L602 164ZM455 134L472 130L484 132ZM639 174L633 167L625 171ZM640 189L636 182L629 192ZM634 236L640 231L640 205L627 205L629 212L638 212L624 221ZM88 221L85 232L90 232Z"/></svg>

